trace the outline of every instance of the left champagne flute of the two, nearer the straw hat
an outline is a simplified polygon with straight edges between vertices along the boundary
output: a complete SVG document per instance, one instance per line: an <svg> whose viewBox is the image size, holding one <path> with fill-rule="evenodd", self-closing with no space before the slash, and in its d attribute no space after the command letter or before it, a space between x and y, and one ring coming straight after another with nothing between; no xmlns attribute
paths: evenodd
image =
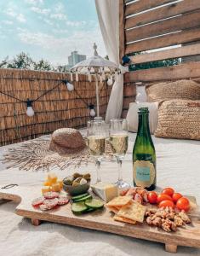
<svg viewBox="0 0 200 256"><path fill-rule="evenodd" d="M87 127L89 153L95 160L97 173L96 183L100 183L100 162L106 150L106 124L103 120L92 120L88 122Z"/></svg>

